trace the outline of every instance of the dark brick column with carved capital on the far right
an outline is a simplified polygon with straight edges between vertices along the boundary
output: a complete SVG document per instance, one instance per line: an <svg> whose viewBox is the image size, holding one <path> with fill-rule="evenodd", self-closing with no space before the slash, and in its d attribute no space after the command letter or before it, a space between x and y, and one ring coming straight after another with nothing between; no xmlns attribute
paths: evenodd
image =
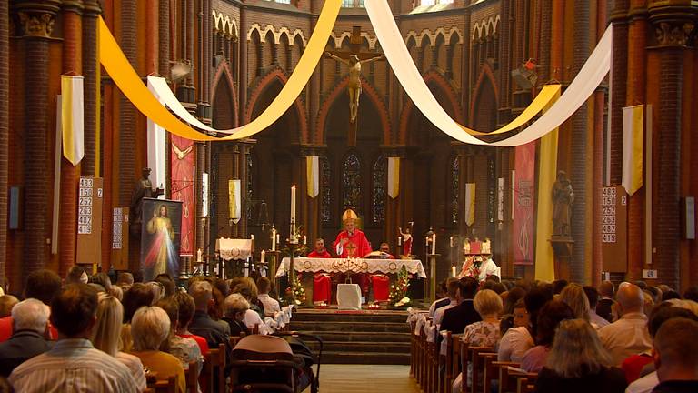
<svg viewBox="0 0 698 393"><path fill-rule="evenodd" d="M682 3L685 3L682 5ZM679 213L681 129L684 54L695 29L698 7L687 0L675 5L653 2L648 7L653 26L653 40L648 49L659 56L659 102L656 103L658 122L654 123L653 182L657 192L653 217L653 268L658 270L659 282L678 287L680 266L681 219Z"/></svg>

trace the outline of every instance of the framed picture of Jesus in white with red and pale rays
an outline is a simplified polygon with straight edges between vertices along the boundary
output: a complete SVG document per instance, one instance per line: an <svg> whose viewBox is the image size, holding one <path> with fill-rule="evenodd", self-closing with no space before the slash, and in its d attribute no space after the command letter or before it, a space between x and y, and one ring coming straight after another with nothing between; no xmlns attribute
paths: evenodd
<svg viewBox="0 0 698 393"><path fill-rule="evenodd" d="M179 276L179 247L182 241L182 202L143 199L141 268L146 281L167 273Z"/></svg>

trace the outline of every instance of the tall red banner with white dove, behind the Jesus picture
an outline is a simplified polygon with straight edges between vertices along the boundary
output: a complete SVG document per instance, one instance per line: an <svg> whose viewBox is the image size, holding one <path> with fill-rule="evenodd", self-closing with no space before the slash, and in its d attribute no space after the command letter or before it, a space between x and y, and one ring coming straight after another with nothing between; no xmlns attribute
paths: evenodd
<svg viewBox="0 0 698 393"><path fill-rule="evenodd" d="M182 202L182 241L179 253L183 257L194 256L194 141L173 135L170 144L170 178L172 199Z"/></svg>

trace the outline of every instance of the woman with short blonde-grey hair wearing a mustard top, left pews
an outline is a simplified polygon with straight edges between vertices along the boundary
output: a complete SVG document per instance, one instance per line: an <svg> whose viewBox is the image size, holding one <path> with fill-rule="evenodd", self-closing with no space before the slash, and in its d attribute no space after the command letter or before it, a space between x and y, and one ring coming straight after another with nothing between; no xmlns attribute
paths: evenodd
<svg viewBox="0 0 698 393"><path fill-rule="evenodd" d="M145 368L155 372L158 380L175 376L178 393L186 391L184 368L175 356L160 350L170 334L170 319L160 307L141 307L131 320L131 335L134 339L133 355L141 359Z"/></svg>

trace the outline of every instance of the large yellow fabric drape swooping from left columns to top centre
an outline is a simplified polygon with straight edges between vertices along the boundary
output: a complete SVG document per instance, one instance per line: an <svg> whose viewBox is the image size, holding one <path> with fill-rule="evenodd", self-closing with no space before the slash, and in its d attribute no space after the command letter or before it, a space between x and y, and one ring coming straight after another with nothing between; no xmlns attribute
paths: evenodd
<svg viewBox="0 0 698 393"><path fill-rule="evenodd" d="M236 128L233 134L222 138L207 136L187 126L173 116L165 106L162 106L145 87L140 76L138 76L133 66L126 59L121 48L116 43L114 35L111 34L102 18L99 20L99 44L97 46L99 59L102 65L104 65L106 72L112 77L116 86L121 89L129 101L141 113L167 131L197 141L241 139L253 136L264 130L264 128L273 125L276 120L284 115L286 109L293 105L295 99L310 80L310 76L313 75L315 65L317 65L324 54L327 37L332 33L334 21L337 15L339 15L341 5L342 2L340 0L327 0L324 2L323 10L317 20L313 35L310 37L298 64L295 66L294 73L288 78L279 95L251 123Z"/></svg>

